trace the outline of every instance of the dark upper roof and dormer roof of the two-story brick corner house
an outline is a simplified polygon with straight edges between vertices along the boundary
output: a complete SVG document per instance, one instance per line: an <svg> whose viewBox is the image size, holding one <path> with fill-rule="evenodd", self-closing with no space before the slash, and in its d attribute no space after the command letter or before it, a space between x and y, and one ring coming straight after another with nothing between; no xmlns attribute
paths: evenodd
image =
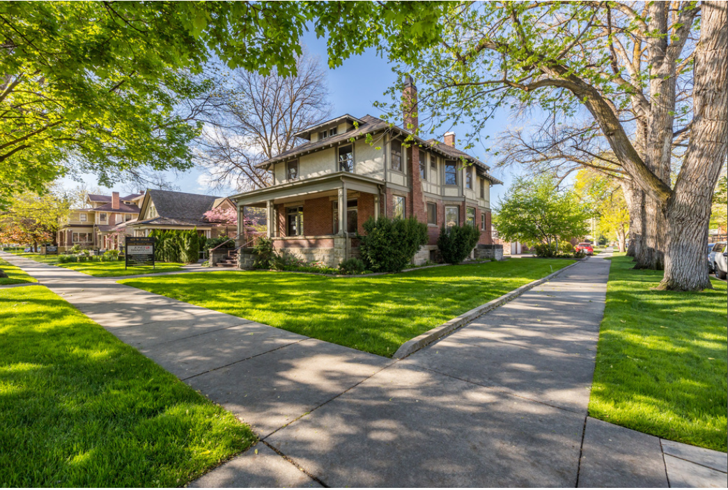
<svg viewBox="0 0 728 490"><path fill-rule="evenodd" d="M374 116L370 116L367 114L361 119L352 118L352 116L349 116L348 114L341 116L336 119L332 119L331 121L328 121L323 124L317 124L316 126L312 126L312 128L306 129L304 131L298 132L298 134L304 134L306 132L310 133L313 129L318 128L320 126L324 126L325 124L331 124L333 121L339 121L344 119L355 119L357 121L360 121L360 124L358 127L351 129L350 131L336 134L336 136L324 138L323 140L318 141L307 141L304 142L302 145L298 145L295 148L291 148L290 150L286 150L277 156L274 156L273 158L269 158L268 160L262 162L261 164L256 165L258 168L265 168L271 164L286 160L288 158L293 158L294 156L300 156L304 153L311 153L314 150L320 150L323 148L326 148L327 146L336 145L340 142L344 142L349 140L350 138L357 138L361 137L365 134L373 134L379 131L384 131L385 129L392 129L395 132L398 132L400 134L406 134L410 135L412 134L406 129L401 128L400 126L394 126L392 124L389 124L387 121L384 121L383 119L376 118ZM446 145L443 142L439 142L435 139L430 140L423 140L419 136L414 136L414 140L420 144L423 145L426 148L430 148L431 150L434 150L438 153L441 153L443 156L449 156L451 158L465 158L467 161L472 162L476 166L478 166L481 170L481 173L485 174L485 176L488 178L488 180L491 180L494 184L502 184L500 180L496 179L495 177L491 176L486 172L490 167L486 164L484 164L482 161L478 160L478 158L475 158L474 156L468 155L462 150L458 150L457 148L453 148L451 146Z"/></svg>

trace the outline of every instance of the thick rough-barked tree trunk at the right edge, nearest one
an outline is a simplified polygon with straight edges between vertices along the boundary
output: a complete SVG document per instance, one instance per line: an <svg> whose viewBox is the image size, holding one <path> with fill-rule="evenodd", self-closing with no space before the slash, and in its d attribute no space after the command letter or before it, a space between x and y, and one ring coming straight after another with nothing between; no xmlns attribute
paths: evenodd
<svg viewBox="0 0 728 490"><path fill-rule="evenodd" d="M680 177L668 201L661 289L711 287L705 249L713 189L728 153L728 4L703 2L695 49L695 119Z"/></svg>

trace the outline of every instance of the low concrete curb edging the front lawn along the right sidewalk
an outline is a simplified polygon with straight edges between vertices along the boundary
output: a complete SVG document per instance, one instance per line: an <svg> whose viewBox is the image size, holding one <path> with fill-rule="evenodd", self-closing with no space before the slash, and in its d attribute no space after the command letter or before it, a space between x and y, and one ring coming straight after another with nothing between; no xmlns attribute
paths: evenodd
<svg viewBox="0 0 728 490"><path fill-rule="evenodd" d="M403 359L407 356L411 356L418 350L432 344L432 342L435 342L435 340L438 340L441 337L444 337L447 334L454 332L461 326L469 324L471 321L475 320L475 318L478 318L478 316L483 315L483 313L488 313L488 311L495 310L500 305L504 305L511 300L515 300L515 298L521 296L521 294L525 293L526 291L529 291L530 289L534 289L534 287L536 286L544 284L546 281L549 281L550 279L555 278L559 274L563 273L564 270L570 269L574 267L574 265L579 265L580 262L582 262L582 260L577 260L577 262L567 265L565 268L559 269L554 273L550 273L548 276L537 279L536 281L530 282L529 284L524 284L517 289L513 289L513 291L511 292L503 294L503 296L501 297L497 297L495 300L488 301L485 305L480 305L477 308L473 308L472 310L463 313L461 316L456 316L452 320L446 321L444 324L436 326L434 329L430 329L427 332L424 332L424 334L420 334L417 337L414 337L414 339L408 340L407 342L400 345L400 348L397 349L397 352L395 352L392 358Z"/></svg>

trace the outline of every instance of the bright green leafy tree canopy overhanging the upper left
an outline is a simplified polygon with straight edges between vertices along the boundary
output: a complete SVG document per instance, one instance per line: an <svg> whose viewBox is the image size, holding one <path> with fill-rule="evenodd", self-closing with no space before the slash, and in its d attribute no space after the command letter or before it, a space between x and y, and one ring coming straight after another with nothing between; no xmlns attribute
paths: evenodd
<svg viewBox="0 0 728 490"><path fill-rule="evenodd" d="M378 42L429 45L438 2L15 2L0 4L0 204L68 172L111 185L141 166L191 166L199 132L181 102L210 60L296 73L309 25L328 63Z"/></svg>

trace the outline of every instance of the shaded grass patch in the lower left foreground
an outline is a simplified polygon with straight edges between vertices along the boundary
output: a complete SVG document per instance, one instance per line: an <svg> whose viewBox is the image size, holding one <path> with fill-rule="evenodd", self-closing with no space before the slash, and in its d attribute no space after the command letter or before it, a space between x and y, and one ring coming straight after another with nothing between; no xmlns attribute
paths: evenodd
<svg viewBox="0 0 728 490"><path fill-rule="evenodd" d="M181 486L254 439L44 286L0 291L0 486Z"/></svg>

